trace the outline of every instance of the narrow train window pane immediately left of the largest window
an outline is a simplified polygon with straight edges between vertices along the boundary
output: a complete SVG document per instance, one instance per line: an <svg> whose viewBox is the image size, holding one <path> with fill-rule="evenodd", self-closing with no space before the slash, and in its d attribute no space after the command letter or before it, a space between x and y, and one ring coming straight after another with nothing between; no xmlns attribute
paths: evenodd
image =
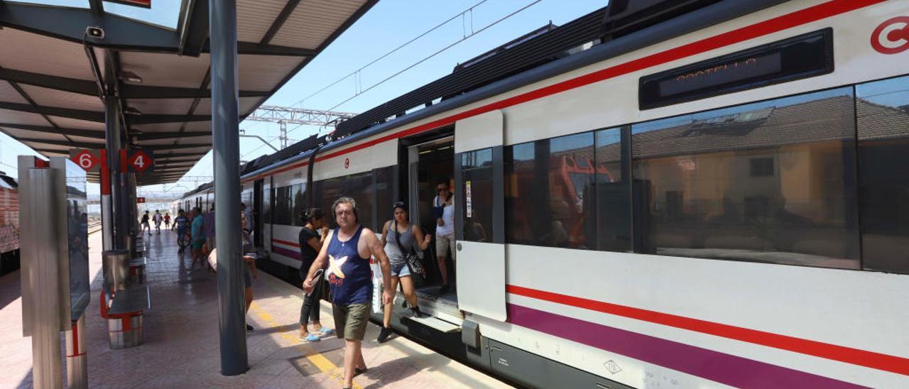
<svg viewBox="0 0 909 389"><path fill-rule="evenodd" d="M632 249L631 181L624 175L622 131L609 128L596 132L596 217L585 218L585 222L596 224L598 249L627 252ZM593 229L585 227L587 231Z"/></svg>

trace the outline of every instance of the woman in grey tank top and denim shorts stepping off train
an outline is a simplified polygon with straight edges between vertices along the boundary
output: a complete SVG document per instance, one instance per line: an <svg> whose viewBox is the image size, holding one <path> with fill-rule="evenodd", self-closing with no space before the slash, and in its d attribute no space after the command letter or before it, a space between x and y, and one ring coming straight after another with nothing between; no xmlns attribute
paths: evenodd
<svg viewBox="0 0 909 389"><path fill-rule="evenodd" d="M423 317L423 313L420 312L420 307L417 305L414 280L411 274L420 272L425 275L426 271L422 265L415 269L411 265L410 260L417 261L417 264L419 264L418 261L420 259L416 256L415 251L416 245L419 244L420 250L425 250L426 247L429 247L429 241L433 237L430 234L423 234L423 229L419 225L410 224L410 219L407 217L407 207L404 202L399 201L392 204L392 207L395 210L395 218L385 222L385 226L382 227L382 246L385 247L385 254L388 255L392 270L392 304L385 304L384 326L382 331L379 332L378 339L376 339L379 343L384 343L388 340L388 336L392 334L392 308L394 307L395 294L397 293L399 282L401 283L401 289L404 291L404 297L407 303L410 304L411 311L414 312L414 316Z"/></svg>

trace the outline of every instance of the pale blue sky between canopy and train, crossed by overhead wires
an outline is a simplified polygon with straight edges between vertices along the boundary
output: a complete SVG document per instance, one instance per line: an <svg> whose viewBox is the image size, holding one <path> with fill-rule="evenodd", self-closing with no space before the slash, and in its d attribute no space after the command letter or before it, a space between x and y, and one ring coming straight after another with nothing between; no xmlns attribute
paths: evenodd
<svg viewBox="0 0 909 389"><path fill-rule="evenodd" d="M416 0L382 0L369 12L360 18L347 31L339 36L332 45L329 45L322 54L318 55L309 65L298 73L290 82L281 88L265 105L305 106L316 109L328 109L347 98L355 95L355 79L350 77L325 92L313 96L302 104L298 104L305 96L313 94L356 69L372 62L375 58L385 55L398 45L423 34L426 30L444 22L446 19L461 13L481 0L445 0L445 1L416 1ZM509 15L524 5L533 3L534 0L487 0L477 5L471 14L464 18L442 26L429 35L425 35L405 48L389 55L383 60L366 67L359 75L359 83L365 89L381 81L389 75L413 65L416 62L432 55L436 51L462 39L464 34L470 34L473 29L479 30L485 25ZM54 5L85 6L85 0L41 0L35 3ZM179 10L178 0L153 0L152 10L114 5L105 3L105 10L116 12L120 15L138 17L143 20L165 26L176 25L176 14ZM437 78L451 73L454 65L467 59L480 55L498 45L501 45L517 36L524 35L538 27L552 21L555 25L562 25L575 18L594 11L604 6L603 0L542 0L524 11L513 15L506 20L494 25L483 32L474 35L463 42L435 55L421 65L396 76L376 86L374 89L358 95L351 101L340 105L335 110L359 113L375 105L403 95L421 85L425 85ZM243 85L241 85L241 88ZM273 145L278 145L278 125L271 123L244 122L240 124L246 134L260 135L272 140ZM294 128L288 126L288 137L300 140L318 131L317 127L303 126ZM25 145L18 144L15 140L5 135L0 135L0 164L15 165L15 155L30 154ZM259 155L265 155L273 150L254 138L240 139L241 160L251 161ZM4 165L0 170L11 169ZM187 175L212 175L211 153L205 155ZM97 193L97 186L91 185L89 193ZM173 185L168 185L173 186ZM191 185L185 185L191 186ZM160 185L143 188L146 191L161 191ZM180 187L177 190L183 191Z"/></svg>

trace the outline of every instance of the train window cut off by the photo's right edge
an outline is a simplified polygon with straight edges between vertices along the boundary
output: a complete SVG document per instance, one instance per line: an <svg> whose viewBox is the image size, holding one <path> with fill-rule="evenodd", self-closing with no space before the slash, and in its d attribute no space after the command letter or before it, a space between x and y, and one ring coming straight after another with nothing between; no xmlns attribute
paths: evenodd
<svg viewBox="0 0 909 389"><path fill-rule="evenodd" d="M864 268L909 273L909 76L855 87Z"/></svg>

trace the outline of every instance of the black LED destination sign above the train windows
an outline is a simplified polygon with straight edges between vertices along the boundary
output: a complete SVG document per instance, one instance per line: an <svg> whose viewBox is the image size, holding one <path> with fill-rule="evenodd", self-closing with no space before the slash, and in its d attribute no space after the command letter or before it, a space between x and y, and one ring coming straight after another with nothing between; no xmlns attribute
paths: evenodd
<svg viewBox="0 0 909 389"><path fill-rule="evenodd" d="M641 109L824 75L834 71L830 29L641 78Z"/></svg>

